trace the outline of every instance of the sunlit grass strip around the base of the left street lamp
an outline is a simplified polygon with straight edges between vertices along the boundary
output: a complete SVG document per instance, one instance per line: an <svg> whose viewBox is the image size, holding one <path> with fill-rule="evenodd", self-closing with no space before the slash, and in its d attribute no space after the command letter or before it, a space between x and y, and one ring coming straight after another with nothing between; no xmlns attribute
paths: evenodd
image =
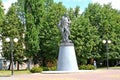
<svg viewBox="0 0 120 80"><path fill-rule="evenodd" d="M14 70L14 75L18 74L30 74L28 70ZM0 76L11 76L11 71L10 70L2 70L0 71Z"/></svg>

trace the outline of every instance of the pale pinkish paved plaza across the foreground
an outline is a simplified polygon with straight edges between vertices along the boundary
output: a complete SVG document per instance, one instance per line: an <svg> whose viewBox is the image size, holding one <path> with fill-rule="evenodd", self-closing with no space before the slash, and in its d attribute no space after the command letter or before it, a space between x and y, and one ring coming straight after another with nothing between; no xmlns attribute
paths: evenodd
<svg viewBox="0 0 120 80"><path fill-rule="evenodd" d="M77 73L34 73L0 77L0 80L120 80L120 70L89 70Z"/></svg>

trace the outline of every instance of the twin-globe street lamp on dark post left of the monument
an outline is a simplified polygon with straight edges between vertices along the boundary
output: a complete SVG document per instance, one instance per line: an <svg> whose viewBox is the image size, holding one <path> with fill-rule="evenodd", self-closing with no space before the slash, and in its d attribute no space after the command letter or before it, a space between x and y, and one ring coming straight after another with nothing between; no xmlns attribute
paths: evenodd
<svg viewBox="0 0 120 80"><path fill-rule="evenodd" d="M10 50L11 50L11 68L12 68L12 71L11 71L11 74L13 75L13 42L18 42L18 38L6 38L6 42L10 42Z"/></svg>

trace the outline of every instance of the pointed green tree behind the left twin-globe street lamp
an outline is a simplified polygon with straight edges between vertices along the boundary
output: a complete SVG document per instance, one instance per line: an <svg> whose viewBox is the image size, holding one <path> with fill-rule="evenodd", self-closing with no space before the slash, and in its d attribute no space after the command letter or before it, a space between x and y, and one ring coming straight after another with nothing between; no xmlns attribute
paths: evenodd
<svg viewBox="0 0 120 80"><path fill-rule="evenodd" d="M5 15L4 26L2 26L2 36L3 36L3 53L7 60L11 60L10 56L10 43L5 41L5 38L10 39L18 38L18 43L14 43L13 54L14 61L21 63L24 58L23 53L23 27L21 27L21 22L17 14L17 5L12 4L9 11Z"/></svg>

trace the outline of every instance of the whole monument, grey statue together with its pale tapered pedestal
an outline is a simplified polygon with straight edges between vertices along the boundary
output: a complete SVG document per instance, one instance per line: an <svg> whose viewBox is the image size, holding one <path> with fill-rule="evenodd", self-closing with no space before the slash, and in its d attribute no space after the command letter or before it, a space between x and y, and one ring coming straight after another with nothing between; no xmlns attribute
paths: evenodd
<svg viewBox="0 0 120 80"><path fill-rule="evenodd" d="M74 43L69 40L70 19L65 14L59 21L58 28L62 34L62 42L59 47L57 71L78 71Z"/></svg>

